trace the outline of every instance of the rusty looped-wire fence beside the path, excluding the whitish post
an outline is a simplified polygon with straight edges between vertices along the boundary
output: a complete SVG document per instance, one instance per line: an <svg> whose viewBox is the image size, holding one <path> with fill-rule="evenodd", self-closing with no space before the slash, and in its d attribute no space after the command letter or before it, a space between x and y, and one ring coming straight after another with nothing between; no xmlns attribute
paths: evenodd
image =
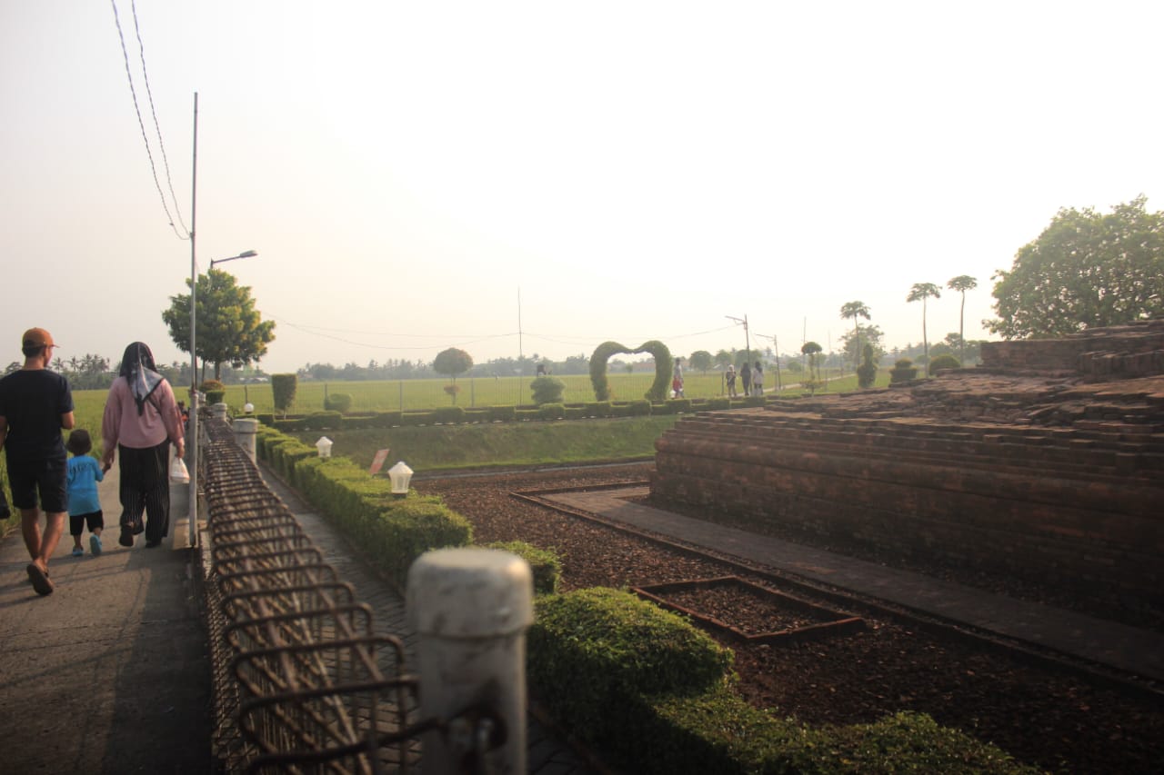
<svg viewBox="0 0 1164 775"><path fill-rule="evenodd" d="M228 773L403 773L417 678L403 644L377 634L226 422L200 445L201 560L215 759Z"/></svg>

